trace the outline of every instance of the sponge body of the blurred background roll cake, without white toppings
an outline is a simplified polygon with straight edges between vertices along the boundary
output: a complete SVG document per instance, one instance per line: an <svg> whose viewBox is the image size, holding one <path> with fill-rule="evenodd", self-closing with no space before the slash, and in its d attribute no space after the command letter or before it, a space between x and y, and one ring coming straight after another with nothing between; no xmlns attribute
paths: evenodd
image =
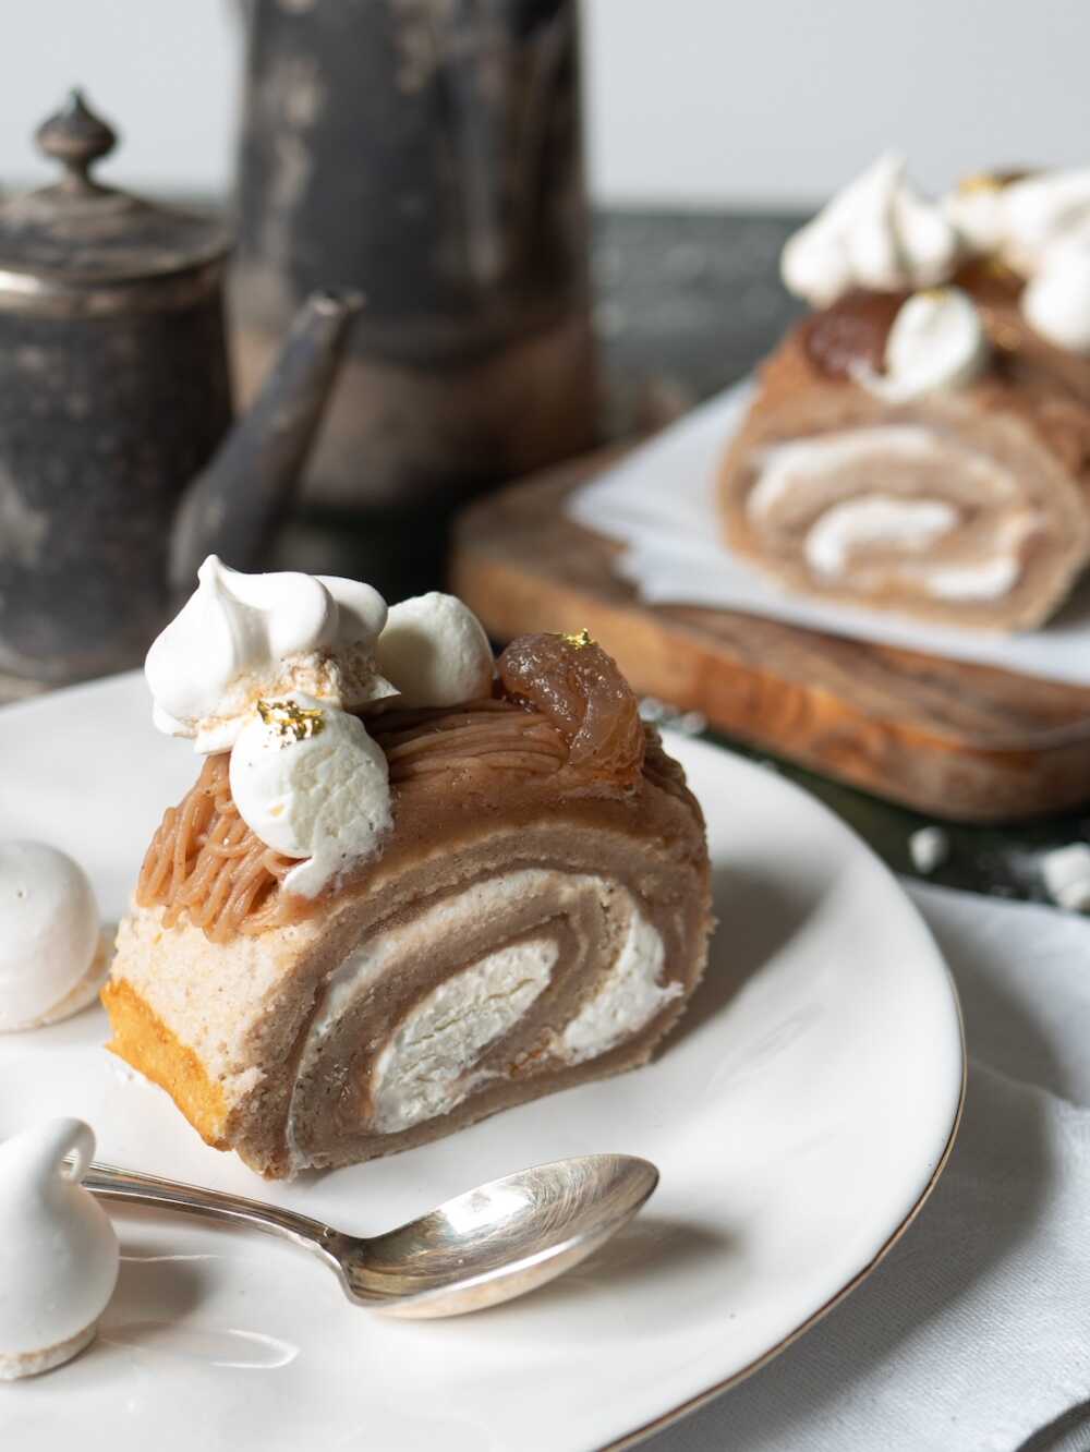
<svg viewBox="0 0 1090 1452"><path fill-rule="evenodd" d="M795 591L1026 629L1090 558L1090 362L1033 333L1013 276L956 283L988 346L965 386L882 389L904 293L849 293L788 335L724 459L726 534Z"/></svg>

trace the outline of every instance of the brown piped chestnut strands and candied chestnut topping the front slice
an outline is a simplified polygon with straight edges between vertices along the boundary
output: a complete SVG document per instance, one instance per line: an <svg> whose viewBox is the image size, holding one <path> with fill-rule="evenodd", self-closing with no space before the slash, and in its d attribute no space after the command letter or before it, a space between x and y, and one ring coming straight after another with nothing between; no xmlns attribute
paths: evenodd
<svg viewBox="0 0 1090 1452"><path fill-rule="evenodd" d="M681 768L647 748L636 696L615 662L588 640L523 636L501 655L491 700L443 709L372 711L367 729L389 762L395 841L399 807L433 807L505 788L512 797L550 783L556 796L617 797L646 778L684 793ZM554 786L552 784L554 780ZM537 794L536 790L533 794ZM411 809L411 810L409 810ZM356 886L372 864L315 899L283 889L293 861L267 848L231 797L226 755L210 756L151 841L136 886L142 908L161 905L164 925L186 916L213 942L255 935L318 910L331 892Z"/></svg>

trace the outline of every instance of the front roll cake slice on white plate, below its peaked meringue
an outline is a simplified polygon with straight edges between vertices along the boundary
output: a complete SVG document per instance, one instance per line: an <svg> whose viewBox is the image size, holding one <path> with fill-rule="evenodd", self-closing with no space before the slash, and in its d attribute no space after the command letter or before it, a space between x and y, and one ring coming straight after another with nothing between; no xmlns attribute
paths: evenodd
<svg viewBox="0 0 1090 1452"><path fill-rule="evenodd" d="M232 745L165 813L103 995L113 1051L270 1178L640 1064L705 961L700 807L597 643L524 636L493 665L446 595L369 630L367 704L245 671L221 691ZM247 669L338 674L311 653ZM177 696L158 716L196 739Z"/></svg>

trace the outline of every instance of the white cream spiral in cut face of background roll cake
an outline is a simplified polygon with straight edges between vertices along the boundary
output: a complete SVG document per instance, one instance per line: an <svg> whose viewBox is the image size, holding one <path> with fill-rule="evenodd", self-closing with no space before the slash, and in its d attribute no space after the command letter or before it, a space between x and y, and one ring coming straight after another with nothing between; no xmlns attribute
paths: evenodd
<svg viewBox="0 0 1090 1452"><path fill-rule="evenodd" d="M819 581L869 592L907 585L935 600L1007 595L1039 526L1036 511L1017 507L1007 469L916 424L768 449L746 511Z"/></svg>

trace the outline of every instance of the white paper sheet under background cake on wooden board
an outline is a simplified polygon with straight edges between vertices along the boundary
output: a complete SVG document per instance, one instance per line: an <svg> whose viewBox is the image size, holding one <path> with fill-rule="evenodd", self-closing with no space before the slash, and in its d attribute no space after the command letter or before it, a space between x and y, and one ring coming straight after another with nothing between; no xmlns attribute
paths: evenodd
<svg viewBox="0 0 1090 1452"><path fill-rule="evenodd" d="M652 604L718 605L859 640L1090 685L1090 576L1055 620L1015 636L827 605L778 588L721 543L716 472L752 396L727 389L578 489L567 513L627 544L617 569Z"/></svg>

